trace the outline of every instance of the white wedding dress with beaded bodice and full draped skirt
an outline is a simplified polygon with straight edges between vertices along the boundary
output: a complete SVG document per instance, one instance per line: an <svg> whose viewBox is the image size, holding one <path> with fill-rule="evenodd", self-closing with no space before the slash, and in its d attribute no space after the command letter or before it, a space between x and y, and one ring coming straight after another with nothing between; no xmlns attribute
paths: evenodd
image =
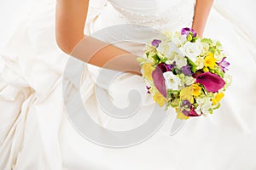
<svg viewBox="0 0 256 170"><path fill-rule="evenodd" d="M194 6L194 0L93 0L84 32L107 42L124 38L147 42L154 35L150 31L113 29L102 36L101 30L132 24L175 31L191 26ZM207 36L223 42L231 63L233 83L221 108L211 116L192 117L175 135L170 135L175 111L166 111L165 122L150 138L119 149L91 142L70 122L62 89L68 94L78 88L72 77L63 76L67 60L73 60L73 71L83 68L79 90L84 107L98 125L108 129L130 130L147 121L154 102L143 79L122 74L110 88L108 77L97 80L100 68L82 64L57 48L54 14L54 1L35 3L1 51L1 170L256 169L255 44L240 26L227 20L222 8L212 9L206 30ZM143 53L143 45L136 42L117 45ZM70 82L68 89L62 87L63 77ZM128 94L135 89L142 105L134 116L109 116L99 104L96 89L121 108L129 105Z"/></svg>

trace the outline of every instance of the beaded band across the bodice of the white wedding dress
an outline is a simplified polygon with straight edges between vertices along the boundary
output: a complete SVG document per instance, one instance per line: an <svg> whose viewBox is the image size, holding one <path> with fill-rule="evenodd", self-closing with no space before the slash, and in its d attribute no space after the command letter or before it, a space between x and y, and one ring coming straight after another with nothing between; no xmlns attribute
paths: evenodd
<svg viewBox="0 0 256 170"><path fill-rule="evenodd" d="M125 22L129 24L143 26L177 25L177 22L183 20L188 23L188 20L192 20L191 16L193 16L193 14L186 14L186 12L191 11L189 8L193 8L195 5L195 0L169 0L170 3L167 3L168 7L164 9L131 8L119 6L116 1L118 0L108 0L119 13L119 17L122 18L122 20L125 20ZM180 6L183 8L179 8Z"/></svg>

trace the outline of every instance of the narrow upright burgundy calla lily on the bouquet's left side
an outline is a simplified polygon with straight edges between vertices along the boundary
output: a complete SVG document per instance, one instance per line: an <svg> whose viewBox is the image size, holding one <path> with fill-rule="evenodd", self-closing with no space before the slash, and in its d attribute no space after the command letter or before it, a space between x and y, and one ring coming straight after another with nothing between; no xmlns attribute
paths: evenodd
<svg viewBox="0 0 256 170"><path fill-rule="evenodd" d="M152 78L154 80L155 88L157 88L160 94L162 94L166 98L166 80L163 76L163 71L160 69L159 66L157 66L152 72Z"/></svg>

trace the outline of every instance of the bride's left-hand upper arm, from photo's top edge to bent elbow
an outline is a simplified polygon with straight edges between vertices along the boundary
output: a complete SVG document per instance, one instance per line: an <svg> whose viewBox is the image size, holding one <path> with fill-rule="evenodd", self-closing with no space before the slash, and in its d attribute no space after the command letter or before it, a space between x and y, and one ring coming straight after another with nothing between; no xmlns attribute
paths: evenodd
<svg viewBox="0 0 256 170"><path fill-rule="evenodd" d="M89 0L57 0L55 14L55 37L58 46L70 54L84 38L84 23Z"/></svg>

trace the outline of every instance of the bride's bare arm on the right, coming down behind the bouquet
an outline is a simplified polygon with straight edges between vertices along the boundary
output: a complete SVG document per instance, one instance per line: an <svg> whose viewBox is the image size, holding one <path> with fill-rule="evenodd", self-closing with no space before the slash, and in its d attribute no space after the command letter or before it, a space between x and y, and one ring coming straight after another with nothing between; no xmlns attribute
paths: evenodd
<svg viewBox="0 0 256 170"><path fill-rule="evenodd" d="M213 0L196 0L192 28L197 32L199 37L203 35L212 3Z"/></svg>

